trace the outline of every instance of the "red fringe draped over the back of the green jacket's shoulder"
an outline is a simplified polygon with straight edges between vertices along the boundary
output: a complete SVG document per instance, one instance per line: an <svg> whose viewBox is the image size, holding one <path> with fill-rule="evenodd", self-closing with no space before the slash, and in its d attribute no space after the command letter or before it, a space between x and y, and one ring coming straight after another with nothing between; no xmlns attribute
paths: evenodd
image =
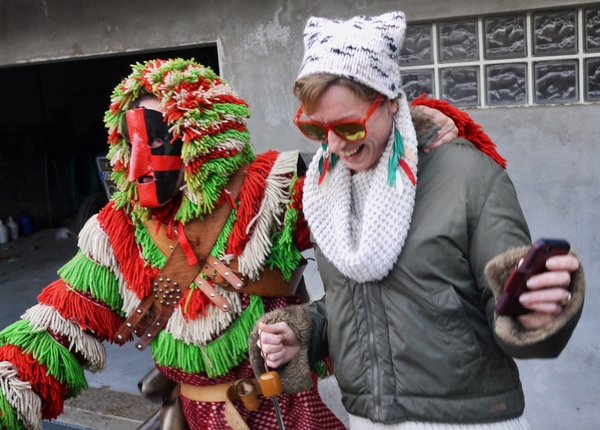
<svg viewBox="0 0 600 430"><path fill-rule="evenodd" d="M475 123L465 111L452 106L446 101L428 98L426 94L422 94L414 99L411 105L428 106L450 117L458 128L459 137L472 142L481 152L502 166L503 169L506 169L506 159L496 151L496 144L492 142L492 139L483 131L481 126Z"/></svg>

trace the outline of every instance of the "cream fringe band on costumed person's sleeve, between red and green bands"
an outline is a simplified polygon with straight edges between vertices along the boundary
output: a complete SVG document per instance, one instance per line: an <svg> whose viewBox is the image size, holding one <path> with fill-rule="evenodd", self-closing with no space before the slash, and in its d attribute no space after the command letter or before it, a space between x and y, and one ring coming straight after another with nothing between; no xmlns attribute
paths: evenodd
<svg viewBox="0 0 600 430"><path fill-rule="evenodd" d="M69 340L69 350L81 353L86 360L84 369L96 373L106 367L106 350L96 338L85 333L74 322L65 319L52 306L37 304L29 308L22 316L29 320L33 331L52 330Z"/></svg>

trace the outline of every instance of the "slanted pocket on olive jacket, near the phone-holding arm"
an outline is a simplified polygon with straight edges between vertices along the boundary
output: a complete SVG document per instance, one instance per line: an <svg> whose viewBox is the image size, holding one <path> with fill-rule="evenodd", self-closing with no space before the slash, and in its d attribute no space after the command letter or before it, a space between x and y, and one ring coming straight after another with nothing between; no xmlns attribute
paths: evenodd
<svg viewBox="0 0 600 430"><path fill-rule="evenodd" d="M431 293L436 323L445 334L447 347L458 366L483 357L483 349L469 324L467 313L455 289L448 285Z"/></svg>

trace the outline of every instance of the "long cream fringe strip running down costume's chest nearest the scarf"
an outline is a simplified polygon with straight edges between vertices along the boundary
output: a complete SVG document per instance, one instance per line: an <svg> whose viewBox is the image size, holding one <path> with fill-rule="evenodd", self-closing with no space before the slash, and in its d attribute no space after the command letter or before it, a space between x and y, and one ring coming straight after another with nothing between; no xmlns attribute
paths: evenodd
<svg viewBox="0 0 600 430"><path fill-rule="evenodd" d="M298 151L282 152L267 177L265 197L256 216L248 223L246 233L256 223L254 233L238 258L239 270L252 280L260 278L265 258L271 249L275 224L281 225L281 214L290 198L290 176L296 171Z"/></svg>

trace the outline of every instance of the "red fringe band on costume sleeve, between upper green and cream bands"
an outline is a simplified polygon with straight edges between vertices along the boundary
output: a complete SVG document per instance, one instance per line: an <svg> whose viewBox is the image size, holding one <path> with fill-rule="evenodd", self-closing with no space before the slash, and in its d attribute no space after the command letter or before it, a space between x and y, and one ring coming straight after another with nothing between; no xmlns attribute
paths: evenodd
<svg viewBox="0 0 600 430"><path fill-rule="evenodd" d="M62 279L44 288L38 301L54 307L64 318L92 333L100 341L112 343L114 334L125 321L91 296L70 289Z"/></svg>

